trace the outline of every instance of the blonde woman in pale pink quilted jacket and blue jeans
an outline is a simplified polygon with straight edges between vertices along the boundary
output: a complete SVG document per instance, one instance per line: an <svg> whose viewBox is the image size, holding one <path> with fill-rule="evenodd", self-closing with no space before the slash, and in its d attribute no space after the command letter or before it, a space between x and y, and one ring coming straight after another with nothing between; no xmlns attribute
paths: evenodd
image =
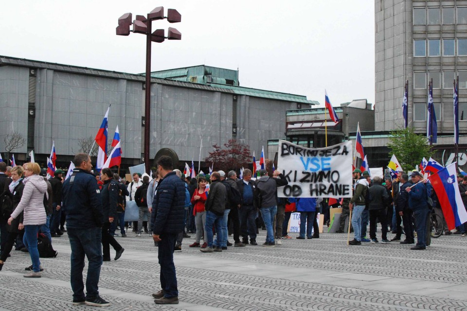
<svg viewBox="0 0 467 311"><path fill-rule="evenodd" d="M44 194L47 193L47 184L44 178L39 176L40 166L37 163L27 163L24 171L26 177L23 181L24 189L18 206L15 208L8 225L23 212L24 236L29 245L29 255L33 263L33 271L24 277L40 277L39 251L37 250L37 232L40 225L46 223L44 209Z"/></svg>

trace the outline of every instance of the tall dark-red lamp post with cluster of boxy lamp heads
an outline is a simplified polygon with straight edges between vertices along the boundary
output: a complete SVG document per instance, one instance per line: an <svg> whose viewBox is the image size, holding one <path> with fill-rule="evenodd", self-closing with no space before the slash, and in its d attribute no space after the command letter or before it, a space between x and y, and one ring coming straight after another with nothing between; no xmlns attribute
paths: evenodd
<svg viewBox="0 0 467 311"><path fill-rule="evenodd" d="M126 13L118 19L116 29L117 35L129 35L130 32L146 35L146 83L145 83L145 101L144 101L144 164L146 173L150 170L149 160L149 138L150 138L150 113L151 113L151 43L162 43L165 39L180 40L180 32L172 27L168 28L167 36L164 29L157 29L152 32L152 21L166 18L169 23L178 23L181 21L180 13L175 9L168 9L167 16L164 17L164 8L159 6L149 12L147 17L137 15L136 19L131 21L131 13ZM130 31L130 25L133 29Z"/></svg>

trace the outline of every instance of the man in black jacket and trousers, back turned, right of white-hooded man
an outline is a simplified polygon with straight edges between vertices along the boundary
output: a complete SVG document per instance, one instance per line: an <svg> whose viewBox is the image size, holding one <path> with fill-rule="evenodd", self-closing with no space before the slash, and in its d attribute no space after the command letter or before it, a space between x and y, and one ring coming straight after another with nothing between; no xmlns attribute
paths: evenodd
<svg viewBox="0 0 467 311"><path fill-rule="evenodd" d="M372 243L377 243L376 238L376 220L379 220L381 224L381 243L390 243L388 240L388 224L386 216L386 205L389 200L389 194L385 187L382 185L382 179L378 176L373 178L373 185L368 191L370 191L371 202L368 204L370 211L370 239Z"/></svg>

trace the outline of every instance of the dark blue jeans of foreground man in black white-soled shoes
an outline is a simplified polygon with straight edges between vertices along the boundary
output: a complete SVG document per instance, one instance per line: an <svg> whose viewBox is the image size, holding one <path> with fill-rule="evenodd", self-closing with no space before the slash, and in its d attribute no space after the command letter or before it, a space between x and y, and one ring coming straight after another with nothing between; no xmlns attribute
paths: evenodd
<svg viewBox="0 0 467 311"><path fill-rule="evenodd" d="M102 228L68 228L68 239L72 248L70 282L75 300L94 299L99 295L99 275L102 266ZM86 297L84 295L84 256L88 258Z"/></svg>

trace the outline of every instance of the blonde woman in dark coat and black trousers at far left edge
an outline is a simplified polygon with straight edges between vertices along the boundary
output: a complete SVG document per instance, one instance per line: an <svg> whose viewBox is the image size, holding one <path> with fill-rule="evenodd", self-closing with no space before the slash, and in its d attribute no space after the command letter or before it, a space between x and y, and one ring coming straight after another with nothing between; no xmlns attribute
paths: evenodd
<svg viewBox="0 0 467 311"><path fill-rule="evenodd" d="M21 196L23 194L23 189L24 189L24 184L21 182L22 181L22 175L23 175L23 168L21 166L15 166L14 168L11 169L11 179L13 180L11 184L8 186L8 189L6 189L2 193L2 201L3 201L3 212L8 213L7 215L11 214L16 207L18 207L19 201L21 200ZM6 204L6 201L8 200L9 203L11 204ZM10 209L11 207L11 209ZM7 225L7 239L5 243L5 247L1 251L0 254L0 270L3 268L3 264L5 263L5 260L8 258L8 254L10 254L12 248L13 248L13 243L16 241L16 238L18 234L24 230L24 225L23 225L23 213L20 213L17 219L15 219L11 225Z"/></svg>

